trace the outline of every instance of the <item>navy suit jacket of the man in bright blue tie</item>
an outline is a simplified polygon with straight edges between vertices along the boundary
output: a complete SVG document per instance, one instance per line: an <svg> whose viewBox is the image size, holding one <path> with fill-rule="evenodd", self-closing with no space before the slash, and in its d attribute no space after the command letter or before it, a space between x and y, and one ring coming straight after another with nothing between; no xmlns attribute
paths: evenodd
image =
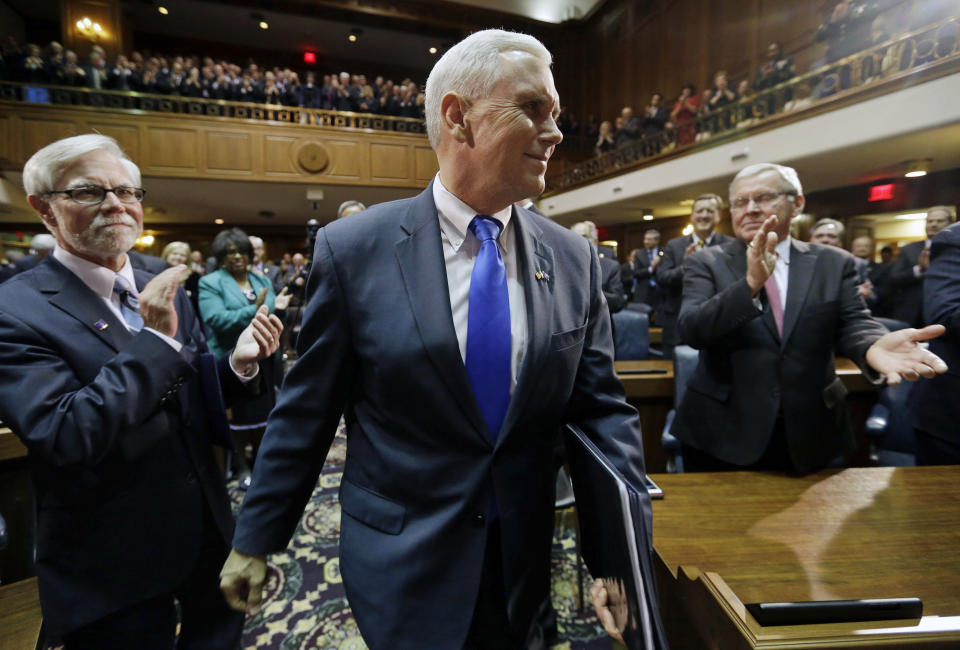
<svg viewBox="0 0 960 650"><path fill-rule="evenodd" d="M529 333L495 445L460 356L432 188L317 235L300 358L270 416L234 546L286 548L343 413L340 571L374 650L463 646L493 501L510 620L527 631L549 588L563 422L640 485L640 426L613 369L597 255L522 208L511 223Z"/></svg>

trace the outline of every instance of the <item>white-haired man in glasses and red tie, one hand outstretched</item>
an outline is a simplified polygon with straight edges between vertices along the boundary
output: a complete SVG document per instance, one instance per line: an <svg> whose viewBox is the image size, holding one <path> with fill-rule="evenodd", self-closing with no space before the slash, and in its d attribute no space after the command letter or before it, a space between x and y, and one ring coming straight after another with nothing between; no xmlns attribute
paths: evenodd
<svg viewBox="0 0 960 650"><path fill-rule="evenodd" d="M946 370L919 345L941 325L887 332L857 295L849 253L789 236L804 203L793 169L751 165L730 186L737 240L687 258L680 335L700 361L673 429L689 469L809 472L847 454L835 352L873 381Z"/></svg>

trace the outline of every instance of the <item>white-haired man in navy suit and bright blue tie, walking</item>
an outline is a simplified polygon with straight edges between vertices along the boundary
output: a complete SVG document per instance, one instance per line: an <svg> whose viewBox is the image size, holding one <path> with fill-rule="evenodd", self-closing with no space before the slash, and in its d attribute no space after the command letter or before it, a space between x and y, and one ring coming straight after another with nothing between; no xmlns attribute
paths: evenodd
<svg viewBox="0 0 960 650"><path fill-rule="evenodd" d="M300 357L221 574L234 606L260 603L341 414L340 572L373 649L542 647L564 422L642 486L597 254L513 205L543 191L562 139L550 61L499 30L448 50L426 90L437 177L318 233Z"/></svg>

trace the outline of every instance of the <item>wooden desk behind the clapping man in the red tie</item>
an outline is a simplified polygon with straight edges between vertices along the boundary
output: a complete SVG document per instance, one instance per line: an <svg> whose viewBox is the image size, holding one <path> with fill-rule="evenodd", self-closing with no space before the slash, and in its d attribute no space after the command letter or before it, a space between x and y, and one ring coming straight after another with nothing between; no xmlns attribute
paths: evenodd
<svg viewBox="0 0 960 650"><path fill-rule="evenodd" d="M648 361L617 361L614 363L617 376L623 384L627 401L640 413L640 428L643 431L643 453L647 471L665 472L667 457L660 447L660 434L667 421L667 413L673 408L673 361L650 359ZM836 361L837 376L847 387L847 405L854 424L857 450L850 459L852 464L867 465L868 444L864 424L870 409L876 402L876 387L863 377L860 368L850 359ZM664 370L662 374L625 374L628 369Z"/></svg>

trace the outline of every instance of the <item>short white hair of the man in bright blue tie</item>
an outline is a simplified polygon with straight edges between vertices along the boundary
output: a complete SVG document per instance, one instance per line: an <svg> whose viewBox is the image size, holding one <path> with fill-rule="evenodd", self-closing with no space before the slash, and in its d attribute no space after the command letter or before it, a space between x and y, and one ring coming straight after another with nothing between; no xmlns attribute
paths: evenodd
<svg viewBox="0 0 960 650"><path fill-rule="evenodd" d="M526 52L548 66L553 62L550 51L533 36L502 29L474 32L447 50L427 77L426 119L430 146L440 145L443 96L454 92L473 101L488 96L500 80L506 52Z"/></svg>

